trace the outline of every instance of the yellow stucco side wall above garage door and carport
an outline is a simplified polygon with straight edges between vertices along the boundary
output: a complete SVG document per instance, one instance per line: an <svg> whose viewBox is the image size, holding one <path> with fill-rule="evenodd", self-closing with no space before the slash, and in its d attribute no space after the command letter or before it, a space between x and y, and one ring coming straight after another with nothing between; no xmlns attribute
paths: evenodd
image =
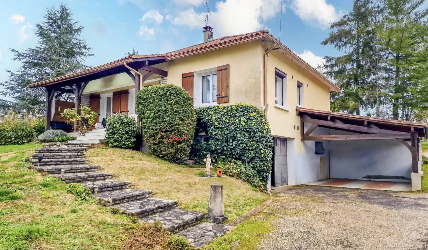
<svg viewBox="0 0 428 250"><path fill-rule="evenodd" d="M275 107L275 68L287 74L289 111ZM282 55L280 50L268 54L268 118L273 136L296 138L296 153L301 152L300 117L296 115L297 81L303 84L303 107L330 110L329 88L300 66ZM296 129L294 129L296 126ZM299 126L299 130L297 130Z"/></svg>

